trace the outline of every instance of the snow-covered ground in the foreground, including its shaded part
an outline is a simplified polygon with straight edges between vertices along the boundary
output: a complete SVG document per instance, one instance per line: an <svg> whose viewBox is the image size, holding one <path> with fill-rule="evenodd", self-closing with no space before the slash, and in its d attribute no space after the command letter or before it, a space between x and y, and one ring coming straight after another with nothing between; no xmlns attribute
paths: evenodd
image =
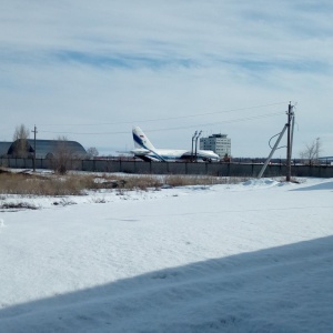
<svg viewBox="0 0 333 333"><path fill-rule="evenodd" d="M1 200L1 333L333 331L332 179Z"/></svg>

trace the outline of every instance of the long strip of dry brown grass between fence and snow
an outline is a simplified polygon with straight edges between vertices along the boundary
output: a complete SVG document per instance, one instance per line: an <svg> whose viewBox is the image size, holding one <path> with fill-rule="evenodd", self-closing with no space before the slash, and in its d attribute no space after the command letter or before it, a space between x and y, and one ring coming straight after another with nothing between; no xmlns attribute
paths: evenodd
<svg viewBox="0 0 333 333"><path fill-rule="evenodd" d="M238 183L245 178L193 175L113 175L0 173L0 194L82 195L87 190L118 189L147 191L162 186Z"/></svg>

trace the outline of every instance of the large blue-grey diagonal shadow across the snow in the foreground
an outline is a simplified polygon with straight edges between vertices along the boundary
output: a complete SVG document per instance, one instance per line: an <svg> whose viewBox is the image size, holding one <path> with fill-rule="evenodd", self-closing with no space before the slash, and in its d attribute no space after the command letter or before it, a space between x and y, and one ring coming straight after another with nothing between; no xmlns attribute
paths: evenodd
<svg viewBox="0 0 333 333"><path fill-rule="evenodd" d="M0 332L329 332L333 236L2 309Z"/></svg>

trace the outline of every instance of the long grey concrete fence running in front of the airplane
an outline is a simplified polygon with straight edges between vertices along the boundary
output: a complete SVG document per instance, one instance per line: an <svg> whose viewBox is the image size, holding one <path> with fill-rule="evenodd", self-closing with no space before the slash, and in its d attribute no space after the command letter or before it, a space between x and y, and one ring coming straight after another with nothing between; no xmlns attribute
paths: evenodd
<svg viewBox="0 0 333 333"><path fill-rule="evenodd" d="M0 159L0 165L33 169L32 159ZM69 169L89 172L124 172L142 174L206 174L216 176L256 176L262 164L203 162L143 162L123 160L73 160ZM37 159L36 169L51 169L51 160ZM263 176L285 175L283 164L270 164ZM293 176L333 178L332 165L292 165Z"/></svg>

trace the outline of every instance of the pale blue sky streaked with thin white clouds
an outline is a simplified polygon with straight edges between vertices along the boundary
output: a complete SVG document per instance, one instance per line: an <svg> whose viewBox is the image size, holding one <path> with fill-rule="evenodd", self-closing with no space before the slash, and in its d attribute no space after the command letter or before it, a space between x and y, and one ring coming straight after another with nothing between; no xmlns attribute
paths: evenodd
<svg viewBox="0 0 333 333"><path fill-rule="evenodd" d="M294 155L333 154L331 1L0 3L0 140L17 125L101 153L225 133L234 157L265 157L296 105ZM276 152L284 157L284 150Z"/></svg>

